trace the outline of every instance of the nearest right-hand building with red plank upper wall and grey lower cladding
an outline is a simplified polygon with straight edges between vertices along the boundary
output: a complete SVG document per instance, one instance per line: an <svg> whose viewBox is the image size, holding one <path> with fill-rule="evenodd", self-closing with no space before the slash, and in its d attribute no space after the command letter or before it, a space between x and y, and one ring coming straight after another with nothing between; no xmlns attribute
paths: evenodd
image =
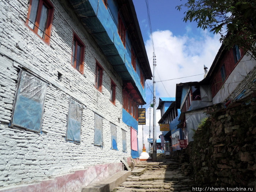
<svg viewBox="0 0 256 192"><path fill-rule="evenodd" d="M208 73L204 69L207 75L202 81L176 84L176 105L181 109L178 127L188 142L193 141L193 130L206 117L208 106L227 107L256 90L256 61L237 45L230 50L222 45Z"/></svg>

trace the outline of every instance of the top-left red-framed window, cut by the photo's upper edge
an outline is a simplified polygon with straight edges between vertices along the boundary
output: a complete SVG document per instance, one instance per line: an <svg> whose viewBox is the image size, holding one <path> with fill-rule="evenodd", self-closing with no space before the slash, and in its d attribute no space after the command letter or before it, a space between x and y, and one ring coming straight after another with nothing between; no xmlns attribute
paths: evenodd
<svg viewBox="0 0 256 192"><path fill-rule="evenodd" d="M30 0L27 25L45 42L50 42L53 5L49 0Z"/></svg>

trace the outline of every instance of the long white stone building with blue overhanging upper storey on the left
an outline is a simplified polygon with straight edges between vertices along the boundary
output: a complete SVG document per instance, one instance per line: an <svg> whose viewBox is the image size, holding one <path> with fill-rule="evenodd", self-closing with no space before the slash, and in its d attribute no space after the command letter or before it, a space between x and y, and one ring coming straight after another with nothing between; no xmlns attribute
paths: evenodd
<svg viewBox="0 0 256 192"><path fill-rule="evenodd" d="M79 191L138 158L152 73L132 0L1 8L0 191Z"/></svg>

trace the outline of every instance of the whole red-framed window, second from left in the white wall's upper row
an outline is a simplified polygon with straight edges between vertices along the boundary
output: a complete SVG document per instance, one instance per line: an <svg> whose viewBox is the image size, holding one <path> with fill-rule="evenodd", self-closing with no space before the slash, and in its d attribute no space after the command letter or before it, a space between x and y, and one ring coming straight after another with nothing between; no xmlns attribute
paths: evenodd
<svg viewBox="0 0 256 192"><path fill-rule="evenodd" d="M84 64L84 44L79 37L74 34L71 65L76 68L81 74L83 74Z"/></svg>

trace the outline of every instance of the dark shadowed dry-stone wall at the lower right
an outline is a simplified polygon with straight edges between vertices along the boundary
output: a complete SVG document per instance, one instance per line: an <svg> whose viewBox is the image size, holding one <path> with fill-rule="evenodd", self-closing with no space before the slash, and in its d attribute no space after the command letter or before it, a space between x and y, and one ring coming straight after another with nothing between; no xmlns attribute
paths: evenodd
<svg viewBox="0 0 256 192"><path fill-rule="evenodd" d="M194 135L190 163L197 184L255 185L256 97L209 109Z"/></svg>

